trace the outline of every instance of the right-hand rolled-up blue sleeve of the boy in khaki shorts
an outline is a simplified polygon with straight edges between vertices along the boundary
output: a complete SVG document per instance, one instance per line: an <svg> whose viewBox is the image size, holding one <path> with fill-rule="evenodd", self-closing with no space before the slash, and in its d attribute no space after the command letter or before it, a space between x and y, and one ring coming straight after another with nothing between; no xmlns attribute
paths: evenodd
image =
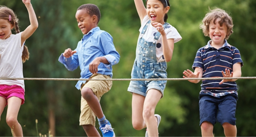
<svg viewBox="0 0 256 137"><path fill-rule="evenodd" d="M105 57L109 62L109 64L104 64L104 66L110 69L112 65L115 65L119 62L120 55L116 51L116 48L114 47L114 44L113 44L113 38L109 33L103 32L101 34L100 44L102 45L102 48L105 52L105 56L103 57Z"/></svg>

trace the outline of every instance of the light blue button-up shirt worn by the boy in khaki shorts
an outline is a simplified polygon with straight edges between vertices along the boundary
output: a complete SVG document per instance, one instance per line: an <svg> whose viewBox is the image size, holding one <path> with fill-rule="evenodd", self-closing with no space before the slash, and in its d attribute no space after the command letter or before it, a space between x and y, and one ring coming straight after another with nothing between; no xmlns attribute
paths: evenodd
<svg viewBox="0 0 256 137"><path fill-rule="evenodd" d="M78 66L81 69L80 78L90 78L92 73L89 71L89 64L97 57L105 57L109 64L100 63L98 66L99 74L109 75L112 78L112 65L119 62L120 55L116 51L112 36L99 27L95 27L85 34L75 49L76 53L70 58L65 58L63 53L59 57L59 62L69 71L74 71ZM76 88L79 90L82 83L78 81Z"/></svg>

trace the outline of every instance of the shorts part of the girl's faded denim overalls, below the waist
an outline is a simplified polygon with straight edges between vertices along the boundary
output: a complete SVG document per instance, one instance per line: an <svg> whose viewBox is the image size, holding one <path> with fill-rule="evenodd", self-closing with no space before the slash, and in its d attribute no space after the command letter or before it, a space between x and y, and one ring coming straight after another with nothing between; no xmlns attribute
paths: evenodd
<svg viewBox="0 0 256 137"><path fill-rule="evenodd" d="M131 71L131 78L167 78L166 68L166 62L147 63L140 65L137 64L137 61L135 60L133 64L133 69ZM150 89L156 89L162 93L163 97L166 82L166 80L130 81L128 91L130 91L131 93L146 96L147 91L149 91Z"/></svg>

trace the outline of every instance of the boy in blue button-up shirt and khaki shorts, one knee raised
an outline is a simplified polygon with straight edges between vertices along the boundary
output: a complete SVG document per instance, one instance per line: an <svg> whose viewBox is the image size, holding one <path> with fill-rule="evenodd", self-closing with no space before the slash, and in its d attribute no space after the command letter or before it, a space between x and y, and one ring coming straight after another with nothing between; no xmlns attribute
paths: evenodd
<svg viewBox="0 0 256 137"><path fill-rule="evenodd" d="M100 30L100 10L96 5L81 5L76 12L78 27L84 34L74 51L66 49L59 57L59 61L69 70L78 66L81 78L110 79L112 65L119 62L112 37L106 31ZM98 118L103 137L114 137L111 124L104 116L100 107L100 97L110 90L112 81L78 81L76 88L81 90L80 125L83 126L88 137L100 137L95 128L95 115Z"/></svg>

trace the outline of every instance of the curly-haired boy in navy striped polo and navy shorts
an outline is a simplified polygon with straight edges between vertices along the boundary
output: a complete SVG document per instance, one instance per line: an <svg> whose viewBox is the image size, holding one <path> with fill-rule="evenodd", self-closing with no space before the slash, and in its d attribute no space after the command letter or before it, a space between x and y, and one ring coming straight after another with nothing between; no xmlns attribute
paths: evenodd
<svg viewBox="0 0 256 137"><path fill-rule="evenodd" d="M232 18L224 10L216 8L206 14L200 28L211 40L197 51L192 66L195 72L187 69L183 78L240 77L243 62L239 50L227 42L233 33ZM216 121L221 123L226 136L236 136L236 80L202 80L199 95L202 136L213 136ZM200 80L189 81L198 83Z"/></svg>

